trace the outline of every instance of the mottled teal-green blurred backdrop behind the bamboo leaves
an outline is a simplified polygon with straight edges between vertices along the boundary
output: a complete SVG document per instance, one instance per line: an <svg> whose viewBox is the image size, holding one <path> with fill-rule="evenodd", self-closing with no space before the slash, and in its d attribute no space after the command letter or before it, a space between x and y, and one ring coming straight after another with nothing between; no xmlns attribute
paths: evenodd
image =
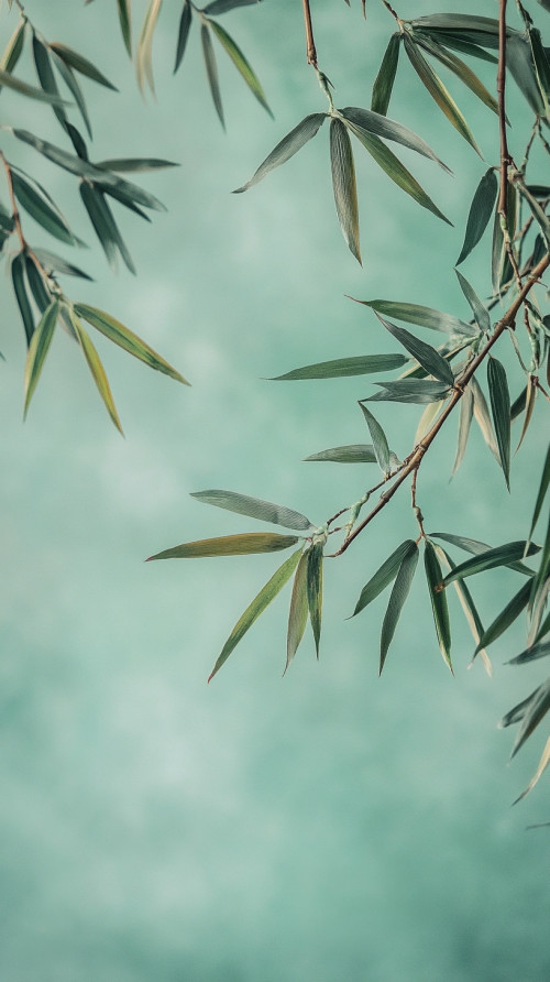
<svg viewBox="0 0 550 982"><path fill-rule="evenodd" d="M358 2L318 6L319 63L337 105L369 106L393 22L374 2L366 24ZM496 15L495 3L460 6ZM543 25L546 12L531 7ZM144 4L135 8L138 22ZM246 195L229 194L299 119L324 108L305 64L300 4L266 0L223 18L276 117L254 102L220 51L227 135L207 91L197 25L179 74L170 74L178 4L164 4L156 32L156 105L140 99L113 3L30 0L26 9L48 40L96 61L121 90L85 86L96 159L158 155L182 164L139 175L168 207L151 227L118 209L139 276L122 270L114 277L92 243L75 183L4 134L9 159L43 181L94 249L76 255L46 243L40 230L29 233L31 242L84 264L96 282L65 281L68 295L118 316L193 389L99 338L122 439L59 332L23 426L24 342L4 275L0 978L547 980L548 830L526 831L548 820L547 785L509 807L546 736L534 736L507 768L512 733L496 729L542 677L538 665L504 665L521 648L524 625L495 645L492 679L477 663L468 672L473 644L452 598L452 678L418 575L378 680L385 598L343 622L372 571L416 535L408 492L327 564L320 662L308 635L283 680L288 590L206 686L233 623L280 559L143 563L178 542L254 528L189 492L241 491L321 523L373 483L372 467L363 473L300 462L369 440L356 406L374 391L367 377L265 379L312 361L395 350L374 315L344 294L468 316L452 265L464 201L487 164L402 64L391 114L420 132L455 176L405 150L399 155L455 228L403 195L358 145L361 269L334 215L328 129ZM432 9L418 0L414 12ZM2 18L2 45L14 20ZM492 84L492 66L474 68ZM21 74L31 78L30 66ZM449 85L487 162L496 163L496 117ZM509 92L520 157L529 112L512 85ZM6 90L2 100L3 122L63 143L48 110ZM534 178L543 179L541 167ZM464 265L481 295L487 250L485 242ZM506 345L502 358L513 365ZM378 414L402 456L418 415L392 406ZM477 432L449 483L455 426L451 421L420 474L427 527L492 544L525 536L542 426L531 427L515 461L513 510ZM502 574L474 586L488 622L516 581Z"/></svg>

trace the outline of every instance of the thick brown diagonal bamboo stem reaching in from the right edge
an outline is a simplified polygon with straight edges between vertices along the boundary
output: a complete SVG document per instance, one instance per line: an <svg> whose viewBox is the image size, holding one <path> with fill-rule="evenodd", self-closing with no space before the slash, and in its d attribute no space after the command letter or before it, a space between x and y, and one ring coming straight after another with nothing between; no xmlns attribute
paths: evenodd
<svg viewBox="0 0 550 982"><path fill-rule="evenodd" d="M550 264L550 255L544 255L540 260L540 262L535 266L531 276L522 285L516 299L514 301L514 303L512 304L509 309L506 312L504 317L496 325L495 330L494 330L493 335L491 336L491 338L488 339L485 347L482 349L482 351L479 352L479 354L476 354L475 358L472 359L472 361L466 365L466 368L464 369L464 371L462 372L460 378L457 380L457 384L455 384L453 394L452 394L451 399L449 400L447 406L444 407L443 412L438 417L438 419L436 421L436 423L433 424L431 429L422 438L421 443L419 443L415 447L415 449L413 450L413 452L410 454L410 456L407 460L406 466L403 468L403 470L398 474L395 483L392 484L392 487L388 488L387 491L385 491L384 494L381 495L381 498L378 499L378 501L377 501L376 505L373 508L373 510L363 519L363 521L356 526L356 528L348 536L348 538L342 543L342 545L340 546L338 552L334 553L336 556L340 556L342 553L345 553L345 550L352 544L353 539L356 538L358 535L360 535L363 532L363 530L373 521L373 519L378 514L378 512L381 512L382 509L384 509L386 506L388 501L391 501L391 499L394 497L397 489L400 488L400 485L408 478L408 476L418 470L418 468L420 467L420 463L422 462L424 455L426 454L426 451L429 449L429 447L436 439L436 437L437 437L439 430L441 429L441 427L443 426L443 423L446 422L446 419L449 418L452 411L454 410L454 407L458 405L458 403L462 399L462 396L464 394L465 386L471 381L471 379L474 377L474 374L477 371L477 369L480 368L481 363L483 362L485 357L491 351L493 345L498 340L501 335L504 334L504 331L514 324L516 314L518 313L526 296L532 290L535 284L539 282L540 277L542 276L544 270L548 269L549 264Z"/></svg>

